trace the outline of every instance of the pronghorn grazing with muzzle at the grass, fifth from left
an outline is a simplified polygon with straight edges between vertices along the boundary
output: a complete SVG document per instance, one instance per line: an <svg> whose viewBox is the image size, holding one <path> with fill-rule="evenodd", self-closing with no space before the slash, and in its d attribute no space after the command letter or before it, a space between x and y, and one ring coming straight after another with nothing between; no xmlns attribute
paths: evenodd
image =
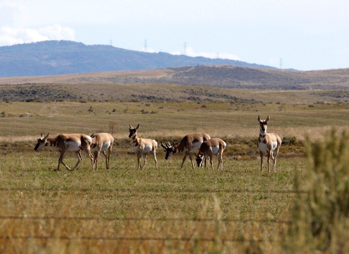
<svg viewBox="0 0 349 254"><path fill-rule="evenodd" d="M202 166L202 162L205 160L205 168L206 168L206 158L209 157L209 162L211 164L211 167L213 169L212 165L212 156L215 154L218 158L218 166L217 170L220 169L223 170L223 151L226 148L227 143L224 142L221 138L211 138L204 142L202 142L199 153L196 154L196 163L198 164L198 167Z"/></svg>

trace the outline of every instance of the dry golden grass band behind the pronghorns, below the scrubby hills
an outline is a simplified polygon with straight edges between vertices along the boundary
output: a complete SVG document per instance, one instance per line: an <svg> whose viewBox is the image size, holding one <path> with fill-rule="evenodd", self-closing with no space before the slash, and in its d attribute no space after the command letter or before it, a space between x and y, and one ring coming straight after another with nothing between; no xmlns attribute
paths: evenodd
<svg viewBox="0 0 349 254"><path fill-rule="evenodd" d="M332 126L347 127L349 106L345 103L279 104L226 102L11 102L0 103L1 140L31 140L40 132L110 132L127 138L128 124L140 124L144 137L179 138L189 132L205 131L210 136L257 137L257 116L271 117L269 132L281 137L322 137ZM23 116L23 117L21 117ZM35 139L34 139L35 140Z"/></svg>

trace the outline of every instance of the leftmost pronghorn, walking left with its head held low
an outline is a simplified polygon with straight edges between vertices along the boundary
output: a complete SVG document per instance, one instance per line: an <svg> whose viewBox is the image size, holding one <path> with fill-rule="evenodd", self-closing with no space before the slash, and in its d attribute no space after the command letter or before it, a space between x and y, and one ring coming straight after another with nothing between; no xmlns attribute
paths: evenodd
<svg viewBox="0 0 349 254"><path fill-rule="evenodd" d="M37 139L37 144L34 148L35 151L40 150L43 147L56 147L60 152L60 156L58 159L58 167L55 171L59 170L60 163L63 164L68 170L74 170L82 160L81 150L84 150L88 153L93 168L93 156L90 151L90 145L92 142L92 138L85 134L60 134L56 137L49 138L48 133L45 137L41 132L41 137ZM63 162L63 156L65 152L75 152L77 154L77 162L75 166L71 169Z"/></svg>

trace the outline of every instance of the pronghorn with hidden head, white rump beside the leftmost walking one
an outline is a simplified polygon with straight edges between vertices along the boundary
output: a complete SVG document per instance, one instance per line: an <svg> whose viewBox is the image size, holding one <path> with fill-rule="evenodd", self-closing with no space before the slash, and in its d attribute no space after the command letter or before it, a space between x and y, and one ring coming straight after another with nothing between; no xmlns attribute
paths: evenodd
<svg viewBox="0 0 349 254"><path fill-rule="evenodd" d="M98 156L102 152L105 157L106 168L109 169L109 158L113 149L114 137L109 133L92 134L91 137L91 152L94 152L94 168L97 170Z"/></svg>

